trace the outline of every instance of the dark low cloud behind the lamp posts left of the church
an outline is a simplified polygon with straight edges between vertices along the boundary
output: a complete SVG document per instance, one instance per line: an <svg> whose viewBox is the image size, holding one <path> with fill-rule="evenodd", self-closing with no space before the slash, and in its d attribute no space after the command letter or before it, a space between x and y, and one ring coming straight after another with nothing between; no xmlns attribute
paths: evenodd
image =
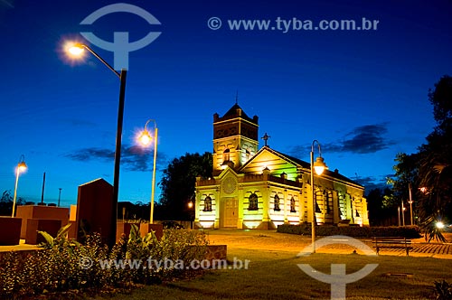
<svg viewBox="0 0 452 300"><path fill-rule="evenodd" d="M154 151L137 145L123 146L121 149L121 167L127 171L148 172L153 168ZM75 161L100 161L114 163L115 151L108 148L88 147L65 155ZM157 153L156 170L165 168L167 157L164 153Z"/></svg>

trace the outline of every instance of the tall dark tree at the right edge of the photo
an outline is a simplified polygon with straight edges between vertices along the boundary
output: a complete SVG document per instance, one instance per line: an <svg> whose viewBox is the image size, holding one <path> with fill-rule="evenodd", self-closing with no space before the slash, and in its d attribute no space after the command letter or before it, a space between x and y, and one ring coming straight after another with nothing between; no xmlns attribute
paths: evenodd
<svg viewBox="0 0 452 300"><path fill-rule="evenodd" d="M452 78L443 76L435 89L428 90L428 100L436 127L417 154L398 155L393 192L397 195L408 179L416 191L415 205L426 239L445 241L437 222L452 220Z"/></svg>

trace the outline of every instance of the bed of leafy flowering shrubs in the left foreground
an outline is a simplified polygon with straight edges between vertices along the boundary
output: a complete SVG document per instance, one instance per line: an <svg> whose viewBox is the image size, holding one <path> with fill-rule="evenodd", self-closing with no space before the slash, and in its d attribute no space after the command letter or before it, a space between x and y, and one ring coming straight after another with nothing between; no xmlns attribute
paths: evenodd
<svg viewBox="0 0 452 300"><path fill-rule="evenodd" d="M87 236L83 244L66 239L60 230L53 238L45 232L43 249L21 255L9 252L0 261L0 298L23 298L46 293L74 291L99 292L114 288L153 284L184 276L193 270L149 267L148 258L184 260L205 257L207 239L200 231L165 230L161 240L154 233L141 237L134 225L128 238L123 237L109 250L100 235ZM134 261L140 262L137 267ZM118 264L120 262L120 264Z"/></svg>

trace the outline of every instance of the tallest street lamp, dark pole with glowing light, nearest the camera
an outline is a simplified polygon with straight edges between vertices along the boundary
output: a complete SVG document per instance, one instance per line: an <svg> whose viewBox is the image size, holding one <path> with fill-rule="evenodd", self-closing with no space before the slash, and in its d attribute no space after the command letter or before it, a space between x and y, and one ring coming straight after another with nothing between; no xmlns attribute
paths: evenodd
<svg viewBox="0 0 452 300"><path fill-rule="evenodd" d="M124 100L126 97L126 77L127 70L122 69L119 73L117 70L113 69L107 61L102 59L98 53L94 52L89 46L81 43L75 43L71 45L68 49L74 56L80 56L84 50L88 50L92 55L94 55L99 61L101 61L109 70L115 73L120 80L119 87L119 106L118 106L118 127L116 135L116 150L115 150L115 171L113 175L113 201L112 201L112 212L111 212L111 224L110 231L108 235L108 246L110 248L115 245L116 242L116 228L117 228L117 218L118 218L118 192L119 192L119 165L121 163L121 142L122 142L122 124L124 118Z"/></svg>

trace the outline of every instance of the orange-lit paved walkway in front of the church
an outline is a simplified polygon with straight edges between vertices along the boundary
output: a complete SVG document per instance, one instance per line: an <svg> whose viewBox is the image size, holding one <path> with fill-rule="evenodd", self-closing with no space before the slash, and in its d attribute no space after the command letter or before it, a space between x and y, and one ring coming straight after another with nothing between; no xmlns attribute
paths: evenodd
<svg viewBox="0 0 452 300"><path fill-rule="evenodd" d="M206 230L212 245L228 245L228 248L266 249L268 251L301 252L309 250L311 237L287 233L277 233L273 230ZM451 240L452 236L448 236ZM319 237L318 239L322 239ZM318 240L316 239L316 240ZM372 248L372 239L360 239ZM425 239L412 239L411 257L430 257L452 259L452 244L425 242ZM351 254L352 246L333 244L318 248L318 253ZM357 251L360 253L360 251ZM381 255L406 256L405 249L381 249Z"/></svg>

